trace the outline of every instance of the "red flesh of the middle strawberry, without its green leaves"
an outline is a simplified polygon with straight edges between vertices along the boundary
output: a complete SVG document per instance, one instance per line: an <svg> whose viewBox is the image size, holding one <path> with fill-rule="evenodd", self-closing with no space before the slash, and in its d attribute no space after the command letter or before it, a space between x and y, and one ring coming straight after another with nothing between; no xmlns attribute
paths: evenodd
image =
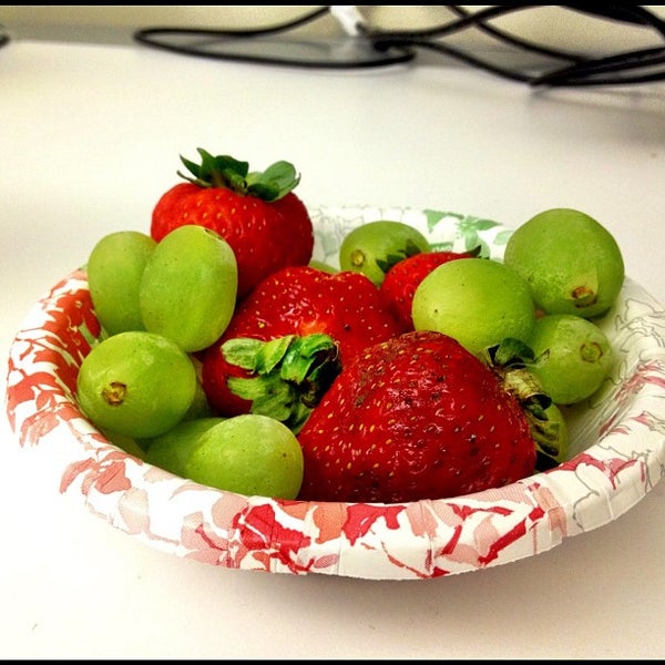
<svg viewBox="0 0 665 665"><path fill-rule="evenodd" d="M313 334L332 339L336 361L344 366L368 346L398 335L399 328L385 310L379 289L360 273L330 274L310 266L278 270L238 304L224 335L203 352L202 382L211 406L223 416L244 413L252 407L252 401L235 395L227 381L256 372L228 361L222 345ZM241 347L239 354L245 352Z"/></svg>

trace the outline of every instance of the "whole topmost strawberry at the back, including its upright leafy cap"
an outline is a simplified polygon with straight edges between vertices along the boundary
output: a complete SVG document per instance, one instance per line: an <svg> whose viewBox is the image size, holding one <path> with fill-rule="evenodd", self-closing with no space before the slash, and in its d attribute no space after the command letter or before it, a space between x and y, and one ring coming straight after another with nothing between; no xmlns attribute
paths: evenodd
<svg viewBox="0 0 665 665"><path fill-rule="evenodd" d="M161 241L184 224L217 232L234 250L238 298L275 270L306 265L314 228L304 203L294 194L299 176L288 162L249 173L247 162L213 156L198 149L201 164L181 157L193 177L166 191L153 208L151 236Z"/></svg>

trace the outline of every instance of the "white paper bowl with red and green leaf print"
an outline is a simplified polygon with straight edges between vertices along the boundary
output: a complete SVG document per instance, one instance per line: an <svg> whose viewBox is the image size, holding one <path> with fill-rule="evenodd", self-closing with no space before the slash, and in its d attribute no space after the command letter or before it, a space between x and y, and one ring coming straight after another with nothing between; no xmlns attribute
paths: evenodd
<svg viewBox="0 0 665 665"><path fill-rule="evenodd" d="M399 219L439 248L501 258L510 229L457 213L317 207L315 256L337 264L358 224ZM477 571L545 552L635 505L665 468L665 310L630 278L600 321L614 371L565 410L569 461L501 489L399 504L283 501L211 489L110 443L80 412L78 368L100 332L85 273L29 311L10 350L7 413L20 446L48 454L63 494L158 550L229 569L371 580ZM27 484L27 487L29 487Z"/></svg>

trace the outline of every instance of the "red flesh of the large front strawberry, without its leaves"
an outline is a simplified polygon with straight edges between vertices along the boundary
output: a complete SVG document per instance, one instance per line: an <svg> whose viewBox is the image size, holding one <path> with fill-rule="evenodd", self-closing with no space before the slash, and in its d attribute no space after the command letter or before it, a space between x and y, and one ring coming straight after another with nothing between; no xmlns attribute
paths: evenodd
<svg viewBox="0 0 665 665"><path fill-rule="evenodd" d="M499 488L533 473L516 398L451 337L406 332L337 377L298 434L299 499L397 503Z"/></svg>

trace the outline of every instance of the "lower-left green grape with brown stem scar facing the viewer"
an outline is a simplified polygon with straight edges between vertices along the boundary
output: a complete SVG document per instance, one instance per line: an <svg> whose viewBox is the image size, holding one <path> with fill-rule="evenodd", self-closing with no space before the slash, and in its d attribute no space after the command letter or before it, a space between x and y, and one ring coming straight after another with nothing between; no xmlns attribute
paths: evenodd
<svg viewBox="0 0 665 665"><path fill-rule="evenodd" d="M92 348L79 369L76 396L100 429L135 439L180 422L196 391L192 359L174 341L127 330Z"/></svg>

